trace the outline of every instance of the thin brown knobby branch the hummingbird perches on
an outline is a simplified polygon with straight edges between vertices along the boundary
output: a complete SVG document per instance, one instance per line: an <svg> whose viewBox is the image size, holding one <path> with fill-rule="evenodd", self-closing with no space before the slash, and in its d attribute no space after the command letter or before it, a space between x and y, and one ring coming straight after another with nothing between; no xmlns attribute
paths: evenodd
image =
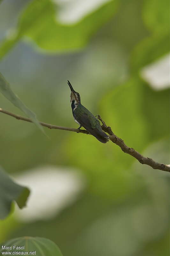
<svg viewBox="0 0 170 256"><path fill-rule="evenodd" d="M23 120L23 121L27 121L27 122L30 122L32 123L32 120L29 119L29 118L26 118L26 117L23 117L23 116L20 116L20 115L16 115L14 113L11 113L7 110L4 110L2 108L0 108L0 112L4 113L4 114L7 114L7 115L10 115L18 120ZM143 155L141 155L140 153L138 153L136 150L134 150L133 148L129 148L125 143L124 141L117 137L113 131L111 130L111 128L109 126L107 126L105 124L105 122L101 119L100 115L97 116L97 118L102 122L102 130L107 132L109 134L109 139L115 143L116 145L118 145L122 151L124 153L127 153L131 156L133 156L134 158L136 158L141 164L146 164L146 165L149 165L151 166L153 169L158 169L158 170L163 170L163 171L167 171L167 172L170 172L170 165L166 165L166 164L162 164L162 163L158 163L158 162L155 162L154 160L152 160L151 158L148 158L148 157L144 157ZM71 131L71 132L77 132L77 133L84 133L84 134L89 134L88 131L86 130L82 130L82 129L74 129L74 128L68 128L68 127L63 127L63 126L56 126L56 125L52 125L52 124L47 124L47 123L44 123L44 122L40 122L40 124L42 126L45 126L49 129L58 129L58 130L65 130L65 131Z"/></svg>

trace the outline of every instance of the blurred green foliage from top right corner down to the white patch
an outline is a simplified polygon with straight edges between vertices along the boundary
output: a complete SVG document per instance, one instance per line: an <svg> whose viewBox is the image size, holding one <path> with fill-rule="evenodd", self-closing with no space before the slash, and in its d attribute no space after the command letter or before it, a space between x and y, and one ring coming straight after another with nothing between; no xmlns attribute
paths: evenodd
<svg viewBox="0 0 170 256"><path fill-rule="evenodd" d="M143 20L151 34L132 52L132 71L169 53L169 1L144 1Z"/></svg>

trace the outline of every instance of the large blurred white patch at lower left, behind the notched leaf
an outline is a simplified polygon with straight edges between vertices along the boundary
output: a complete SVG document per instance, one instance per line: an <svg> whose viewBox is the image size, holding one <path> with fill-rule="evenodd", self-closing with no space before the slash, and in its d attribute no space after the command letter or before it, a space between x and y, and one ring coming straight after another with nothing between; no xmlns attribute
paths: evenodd
<svg viewBox="0 0 170 256"><path fill-rule="evenodd" d="M85 188L84 179L76 171L53 166L27 170L14 180L31 190L26 207L15 210L16 218L24 222L56 216Z"/></svg>

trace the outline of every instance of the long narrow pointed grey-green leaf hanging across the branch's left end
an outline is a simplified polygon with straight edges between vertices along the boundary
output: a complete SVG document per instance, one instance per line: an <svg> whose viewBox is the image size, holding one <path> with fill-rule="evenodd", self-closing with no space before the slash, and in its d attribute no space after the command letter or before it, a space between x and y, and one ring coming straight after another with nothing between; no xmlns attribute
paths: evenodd
<svg viewBox="0 0 170 256"><path fill-rule="evenodd" d="M39 121L36 118L36 115L29 110L26 105L18 98L17 95L11 90L9 83L5 80L3 75L0 73L0 92L16 107L18 107L22 112L29 117L33 123L42 131L44 132L42 126L40 125Z"/></svg>

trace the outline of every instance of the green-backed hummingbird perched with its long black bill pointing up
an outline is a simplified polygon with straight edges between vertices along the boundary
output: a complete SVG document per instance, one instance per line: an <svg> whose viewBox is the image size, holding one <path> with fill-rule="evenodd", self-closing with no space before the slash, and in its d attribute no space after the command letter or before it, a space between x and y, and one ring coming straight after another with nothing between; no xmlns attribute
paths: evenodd
<svg viewBox="0 0 170 256"><path fill-rule="evenodd" d="M67 81L67 83L71 90L71 108L74 120L79 125L78 129L83 126L91 135L96 137L97 140L102 143L107 143L109 137L102 131L99 120L81 104L79 93L73 89L69 81Z"/></svg>

